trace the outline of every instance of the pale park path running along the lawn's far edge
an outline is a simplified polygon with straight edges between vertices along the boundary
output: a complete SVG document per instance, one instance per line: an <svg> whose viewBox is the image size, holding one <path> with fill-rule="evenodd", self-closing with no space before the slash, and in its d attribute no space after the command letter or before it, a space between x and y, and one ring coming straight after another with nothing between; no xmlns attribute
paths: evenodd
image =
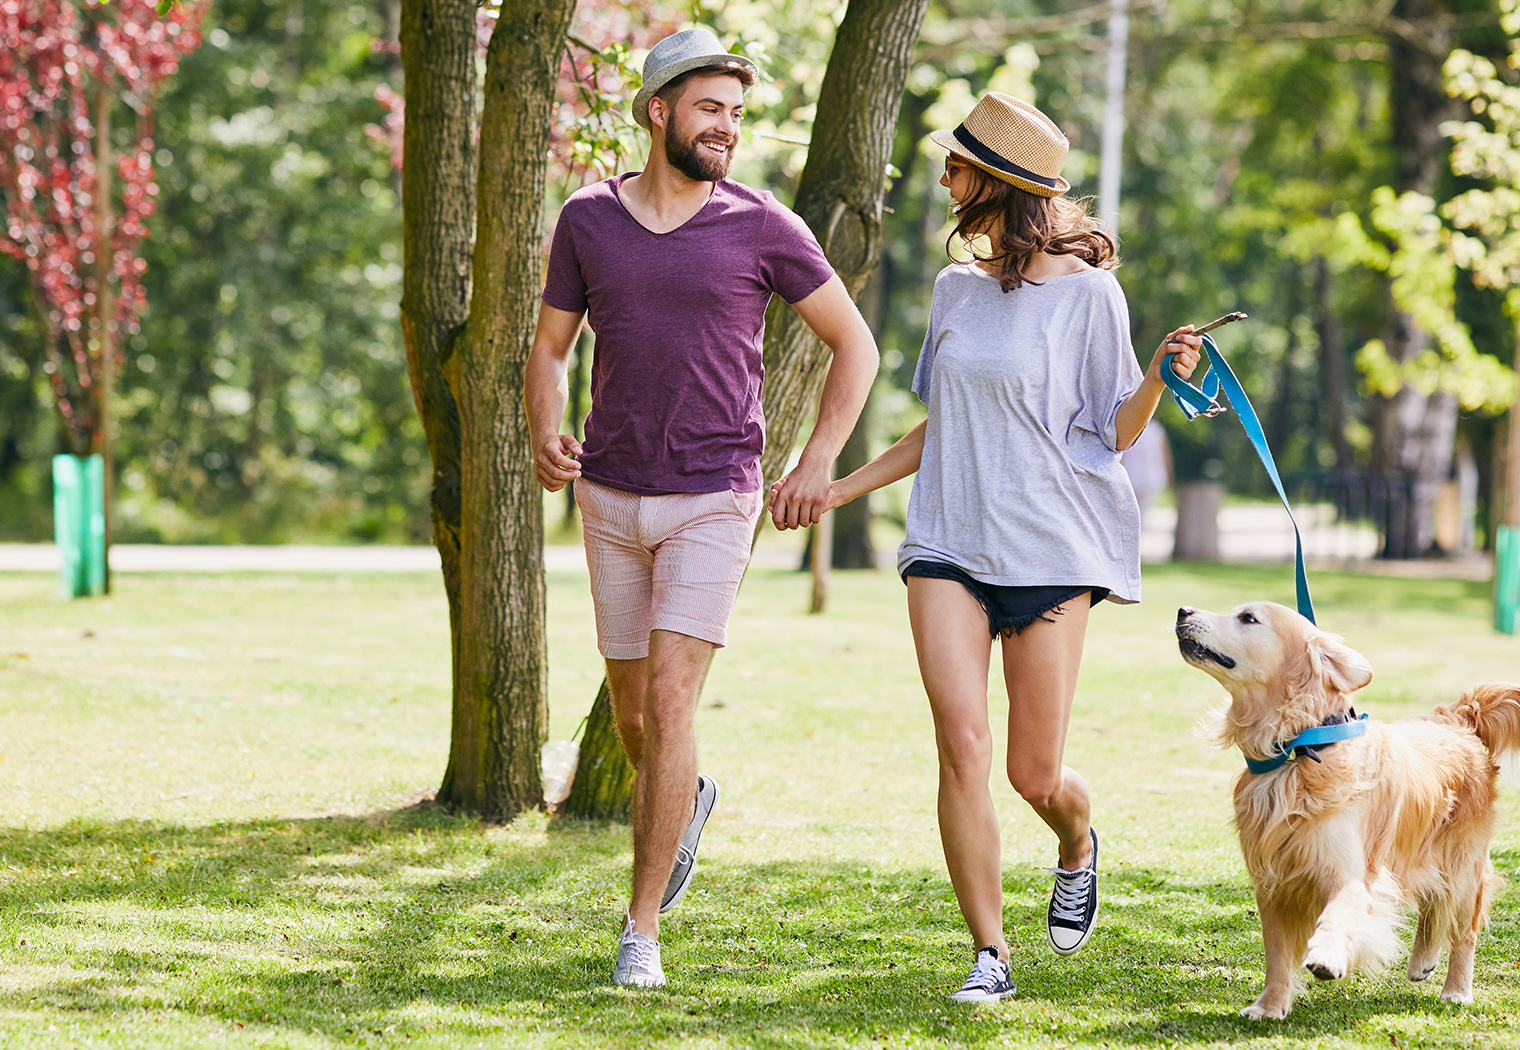
<svg viewBox="0 0 1520 1050"><path fill-rule="evenodd" d="M1379 562L1377 535L1365 524L1338 524L1328 508L1295 508L1304 532L1304 553L1312 562L1356 571L1404 576L1447 576L1490 579L1491 561L1482 555L1456 559ZM1324 511L1322 514L1319 511ZM1151 508L1140 536L1140 558L1166 561L1172 553L1176 512ZM801 542L795 536L768 533L754 555L760 568L795 568ZM1222 561L1290 561L1294 530L1275 503L1228 504L1219 511L1219 553ZM882 565L891 565L894 550L880 552ZM544 547L549 571L584 573L585 553L579 546ZM0 573L56 573L58 549L53 544L0 544ZM170 546L116 544L111 570L117 573L421 573L438 571L438 552L432 547L394 546Z"/></svg>

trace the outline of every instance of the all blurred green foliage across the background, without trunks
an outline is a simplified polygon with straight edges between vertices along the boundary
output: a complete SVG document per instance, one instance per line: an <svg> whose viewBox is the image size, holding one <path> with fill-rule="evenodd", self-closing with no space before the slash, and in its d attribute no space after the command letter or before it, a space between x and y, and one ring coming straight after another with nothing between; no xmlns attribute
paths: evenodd
<svg viewBox="0 0 1520 1050"><path fill-rule="evenodd" d="M429 535L427 454L397 322L398 175L383 138L366 134L386 117L375 88L401 87L385 43L397 2L230 0L170 82L157 126L161 207L146 242L149 315L122 374L123 538ZM1452 6L1471 14L1487 2ZM1503 3L1515 33L1514 0ZM845 0L582 0L547 213L585 179L637 167L648 137L628 102L644 47L695 23L762 62L734 176L790 201L844 11ZM985 90L1029 97L1072 137L1075 193L1094 193L1102 14L1056 0L932 5L892 152L885 302L866 293L895 387L888 400L906 404L882 413L877 447L917 419L901 389L945 261L942 155L926 132L955 126ZM1447 74L1474 112L1452 128L1456 178L1429 202L1388 202L1374 190L1394 181L1389 61L1366 20L1360 0L1132 6L1117 275L1137 354L1148 363L1176 324L1248 312L1222 345L1284 435L1287 474L1333 463L1328 357L1360 377L1347 406L1360 456L1374 392L1415 381L1493 409L1512 383L1502 365L1514 327L1499 305L1520 272L1514 138L1503 131L1515 112L1509 40L1458 30ZM1254 32L1262 26L1307 29ZM1325 36L1324 26L1341 29ZM0 533L44 538L53 421L12 266L0 260ZM1379 353L1394 302L1438 336L1406 368ZM1161 418L1181 476L1266 492L1233 422L1184 424L1169 403Z"/></svg>

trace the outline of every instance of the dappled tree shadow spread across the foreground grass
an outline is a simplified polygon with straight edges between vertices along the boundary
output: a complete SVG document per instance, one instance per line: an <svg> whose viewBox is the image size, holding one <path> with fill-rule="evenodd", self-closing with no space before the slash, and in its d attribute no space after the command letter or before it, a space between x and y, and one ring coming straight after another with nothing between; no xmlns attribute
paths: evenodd
<svg viewBox="0 0 1520 1050"><path fill-rule="evenodd" d="M161 1010L339 1042L1154 1045L1365 1038L1411 1015L1436 1032L1465 1017L1471 1033L1508 1024L1500 1010L1517 1001L1497 976L1508 963L1491 962L1479 998L1493 1009L1441 1010L1435 988L1374 977L1252 1024L1236 1017L1262 980L1249 889L1119 868L1104 875L1099 936L1075 959L1043 945L1047 877L1009 874L1020 992L967 1010L945 998L970 945L944 875L847 862L705 863L664 922L670 985L626 992L608 985L626 865L619 825L492 830L426 808L0 830L0 1010L102 1029ZM1512 959L1515 927L1502 907L1485 957Z"/></svg>

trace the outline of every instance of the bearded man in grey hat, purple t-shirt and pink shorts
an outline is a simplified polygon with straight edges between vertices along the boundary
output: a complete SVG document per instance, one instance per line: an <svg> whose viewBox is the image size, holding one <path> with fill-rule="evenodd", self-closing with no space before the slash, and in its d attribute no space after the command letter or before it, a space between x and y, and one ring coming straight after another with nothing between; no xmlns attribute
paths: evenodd
<svg viewBox="0 0 1520 1050"><path fill-rule="evenodd" d="M660 912L686 892L717 786L696 772L696 701L762 509L765 308L790 302L833 351L818 422L772 514L818 521L877 353L807 226L727 178L755 67L705 29L655 44L634 120L643 172L559 214L526 369L540 483L575 482L613 711L634 784L632 893L613 980L664 985ZM567 362L596 330L585 445L559 433ZM696 784L693 804L692 786Z"/></svg>

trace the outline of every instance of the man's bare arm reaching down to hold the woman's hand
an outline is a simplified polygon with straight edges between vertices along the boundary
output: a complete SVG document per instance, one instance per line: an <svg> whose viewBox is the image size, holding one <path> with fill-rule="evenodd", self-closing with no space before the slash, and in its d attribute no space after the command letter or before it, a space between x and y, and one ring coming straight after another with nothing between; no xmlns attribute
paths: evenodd
<svg viewBox="0 0 1520 1050"><path fill-rule="evenodd" d="M833 362L828 378L824 380L813 435L807 439L796 468L781 479L771 504L771 520L777 529L815 524L828 509L830 466L860 416L879 360L876 339L838 274L795 305L813 334L833 351Z"/></svg>

